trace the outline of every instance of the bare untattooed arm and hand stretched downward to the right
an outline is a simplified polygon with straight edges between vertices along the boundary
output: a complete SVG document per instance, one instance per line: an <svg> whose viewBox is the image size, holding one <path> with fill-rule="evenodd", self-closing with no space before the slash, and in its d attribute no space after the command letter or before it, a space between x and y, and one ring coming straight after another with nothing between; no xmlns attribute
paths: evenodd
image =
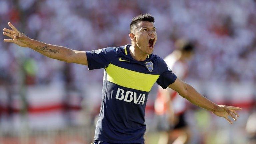
<svg viewBox="0 0 256 144"><path fill-rule="evenodd" d="M229 123L233 123L228 116L231 116L235 121L239 117L236 110L241 110L239 107L217 105L195 90L191 85L181 81L179 78L174 83L168 86L169 88L177 91L179 95L186 98L188 101L201 108L213 112L219 117L224 117Z"/></svg>

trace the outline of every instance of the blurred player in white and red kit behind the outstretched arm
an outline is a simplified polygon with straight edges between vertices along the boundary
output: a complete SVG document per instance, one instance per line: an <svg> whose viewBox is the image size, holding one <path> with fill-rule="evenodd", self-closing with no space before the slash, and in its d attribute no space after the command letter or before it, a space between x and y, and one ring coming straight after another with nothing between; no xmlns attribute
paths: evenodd
<svg viewBox="0 0 256 144"><path fill-rule="evenodd" d="M164 61L178 78L184 80L188 74L188 60L194 54L194 46L186 40L175 43L176 50ZM155 101L155 113L158 115L158 129L161 131L158 144L186 144L190 130L185 121L184 112L187 100L171 89L158 88Z"/></svg>

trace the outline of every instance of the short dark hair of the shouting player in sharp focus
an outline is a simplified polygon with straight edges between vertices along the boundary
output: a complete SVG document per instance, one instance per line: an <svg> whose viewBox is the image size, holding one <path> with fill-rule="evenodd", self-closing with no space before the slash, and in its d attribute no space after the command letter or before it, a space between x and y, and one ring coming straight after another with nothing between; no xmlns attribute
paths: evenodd
<svg viewBox="0 0 256 144"><path fill-rule="evenodd" d="M137 26L138 22L140 21L148 21L148 22L155 22L155 18L150 14L140 14L134 18L132 18L132 22L130 24L130 32L132 29Z"/></svg>

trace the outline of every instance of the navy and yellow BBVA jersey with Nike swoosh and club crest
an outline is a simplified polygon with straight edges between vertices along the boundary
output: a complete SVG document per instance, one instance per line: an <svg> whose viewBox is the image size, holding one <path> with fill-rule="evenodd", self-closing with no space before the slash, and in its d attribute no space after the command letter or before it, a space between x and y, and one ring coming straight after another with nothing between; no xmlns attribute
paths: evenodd
<svg viewBox="0 0 256 144"><path fill-rule="evenodd" d="M94 140L144 143L149 91L155 82L167 88L177 78L157 55L148 55L145 61L133 59L130 46L86 51L89 70L105 69Z"/></svg>

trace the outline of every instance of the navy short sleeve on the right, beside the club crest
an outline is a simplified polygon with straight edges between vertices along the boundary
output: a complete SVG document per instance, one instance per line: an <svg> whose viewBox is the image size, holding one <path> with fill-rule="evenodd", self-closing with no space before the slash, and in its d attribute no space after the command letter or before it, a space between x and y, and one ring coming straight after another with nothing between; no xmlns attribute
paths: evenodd
<svg viewBox="0 0 256 144"><path fill-rule="evenodd" d="M172 70L167 66L165 61L161 59L159 61L159 70L162 72L157 79L157 84L163 89L166 89L170 84L174 83L177 76L172 72Z"/></svg>

